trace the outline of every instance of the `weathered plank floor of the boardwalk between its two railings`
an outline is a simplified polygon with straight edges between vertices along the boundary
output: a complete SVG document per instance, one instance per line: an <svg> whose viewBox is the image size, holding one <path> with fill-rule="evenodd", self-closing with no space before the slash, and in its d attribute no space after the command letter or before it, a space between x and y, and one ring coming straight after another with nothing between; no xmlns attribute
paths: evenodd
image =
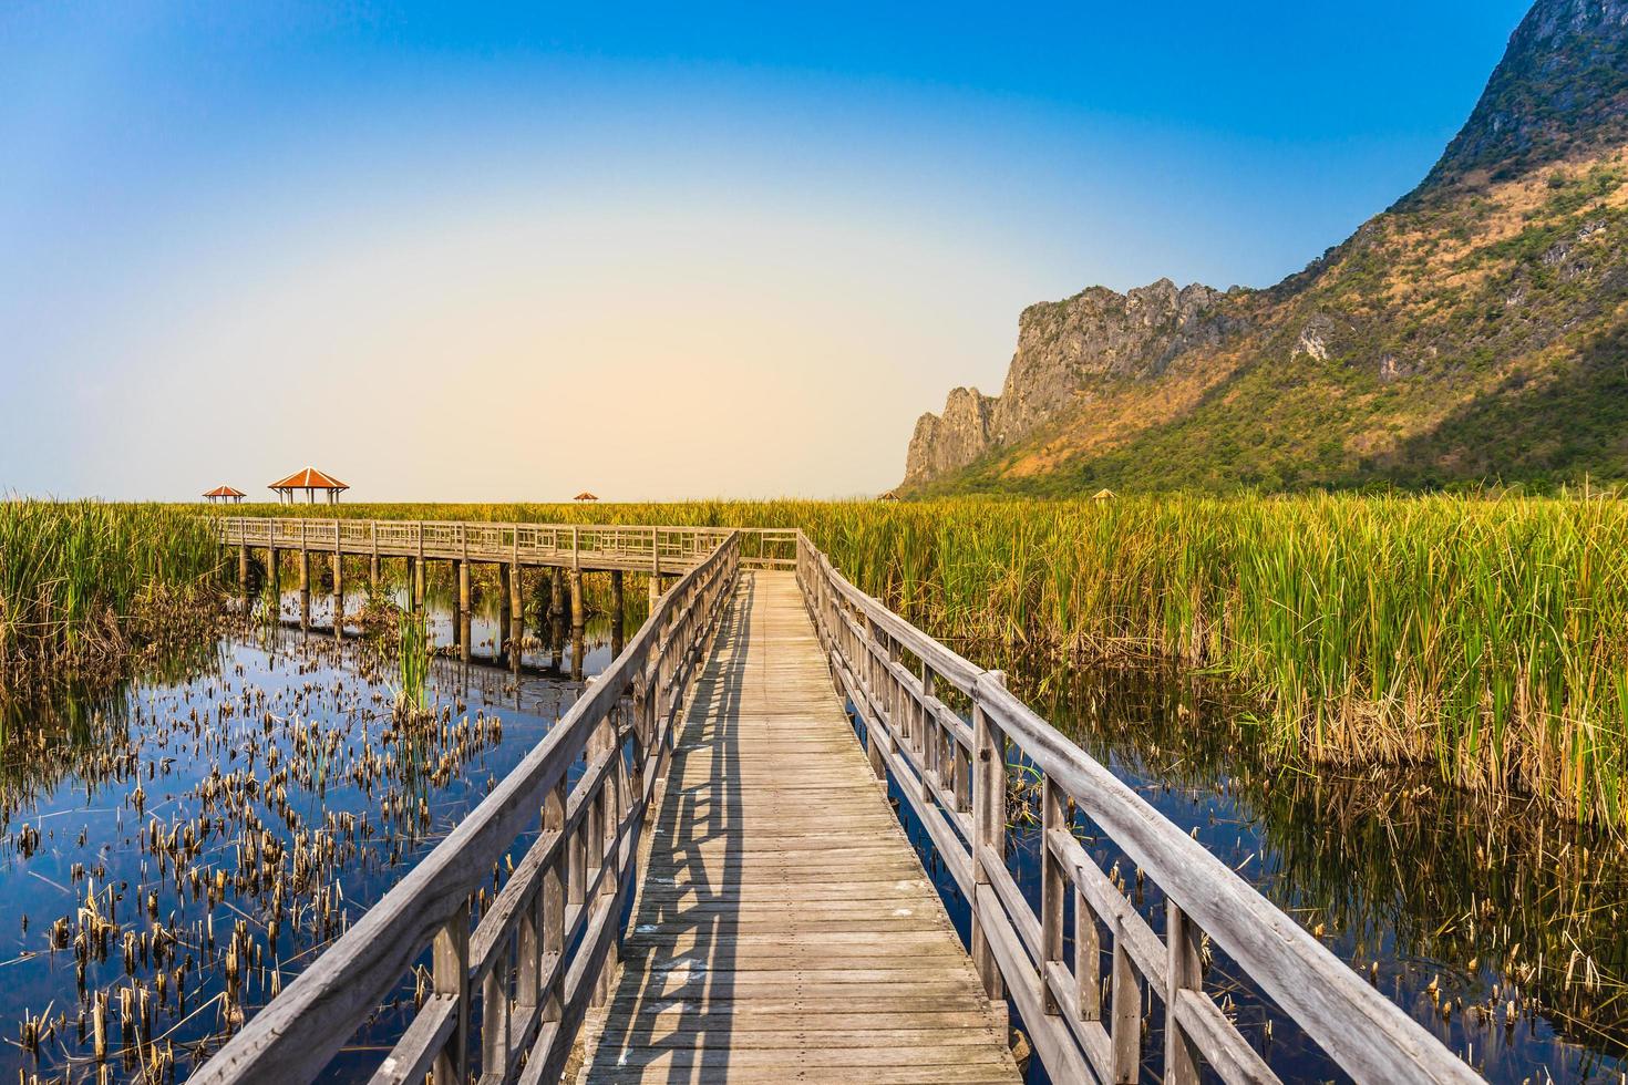
<svg viewBox="0 0 1628 1085"><path fill-rule="evenodd" d="M682 721L583 1082L1013 1082L790 573L742 573Z"/></svg>

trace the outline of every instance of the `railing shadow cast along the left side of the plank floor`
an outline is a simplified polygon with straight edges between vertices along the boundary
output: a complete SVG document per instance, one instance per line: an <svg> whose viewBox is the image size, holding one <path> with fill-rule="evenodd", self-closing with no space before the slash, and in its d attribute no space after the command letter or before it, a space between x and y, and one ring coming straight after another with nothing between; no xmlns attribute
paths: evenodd
<svg viewBox="0 0 1628 1085"><path fill-rule="evenodd" d="M588 1075L728 1070L742 906L739 698L757 584L744 573L677 732L650 862ZM687 768L695 782L685 784ZM723 856L718 856L718 849Z"/></svg>

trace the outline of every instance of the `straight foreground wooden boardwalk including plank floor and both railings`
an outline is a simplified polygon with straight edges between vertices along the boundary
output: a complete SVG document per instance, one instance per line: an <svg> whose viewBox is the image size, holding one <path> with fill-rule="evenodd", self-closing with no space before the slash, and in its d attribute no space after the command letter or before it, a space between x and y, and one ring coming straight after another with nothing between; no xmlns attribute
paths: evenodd
<svg viewBox="0 0 1628 1085"><path fill-rule="evenodd" d="M319 1077L420 960L435 991L374 1082L1016 1080L1009 1010L1053 1082L1278 1080L1206 992L1211 953L1354 1080L1480 1080L998 672L791 545L783 571L764 537L723 534L514 773L194 1080ZM1004 851L1016 763L1042 779L1037 908ZM972 904L970 953L889 782ZM1084 820L1162 891L1162 934L1079 844Z"/></svg>

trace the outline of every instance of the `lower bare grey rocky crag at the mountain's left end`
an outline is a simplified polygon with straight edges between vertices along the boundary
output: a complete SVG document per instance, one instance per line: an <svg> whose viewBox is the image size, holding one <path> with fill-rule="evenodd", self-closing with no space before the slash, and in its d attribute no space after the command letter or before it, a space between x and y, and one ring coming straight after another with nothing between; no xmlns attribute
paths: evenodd
<svg viewBox="0 0 1628 1085"><path fill-rule="evenodd" d="M1017 317L1017 353L998 397L956 389L943 415L921 415L905 457L905 486L959 470L1009 446L1104 387L1154 381L1185 350L1214 345L1239 324L1221 291L1167 278L1118 294L1092 286Z"/></svg>

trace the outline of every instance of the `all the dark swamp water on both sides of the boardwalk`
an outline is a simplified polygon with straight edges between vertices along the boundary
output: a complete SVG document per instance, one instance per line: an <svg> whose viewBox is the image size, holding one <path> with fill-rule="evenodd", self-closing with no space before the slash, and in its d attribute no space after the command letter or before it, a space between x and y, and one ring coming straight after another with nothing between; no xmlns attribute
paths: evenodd
<svg viewBox="0 0 1628 1085"><path fill-rule="evenodd" d="M348 597L345 613L365 604ZM298 594L278 607L298 625ZM518 677L438 657L435 714L404 727L396 667L366 638L335 643L330 613L313 594L313 633L257 625L111 695L0 717L0 1082L142 1080L155 1065L182 1080L547 734L581 688L570 675L597 673L615 639L601 620L580 647L527 643ZM444 652L444 595L431 592L430 617ZM500 628L477 602L472 656L500 656ZM1428 779L1281 771L1241 737L1236 704L1180 677L1014 669L1011 682L1491 1080L1621 1080L1628 854L1615 841L1537 812L1475 812ZM1013 776L1009 865L1034 901L1037 795L1021 765ZM965 939L967 904L910 828ZM1162 932L1158 888L1089 823L1076 833ZM1338 1080L1236 974L1216 950L1206 986L1228 991L1280 1075ZM405 978L330 1077L365 1077L418 994ZM1159 1030L1154 1002L1144 1051ZM1045 1080L1039 1061L1029 1077Z"/></svg>

